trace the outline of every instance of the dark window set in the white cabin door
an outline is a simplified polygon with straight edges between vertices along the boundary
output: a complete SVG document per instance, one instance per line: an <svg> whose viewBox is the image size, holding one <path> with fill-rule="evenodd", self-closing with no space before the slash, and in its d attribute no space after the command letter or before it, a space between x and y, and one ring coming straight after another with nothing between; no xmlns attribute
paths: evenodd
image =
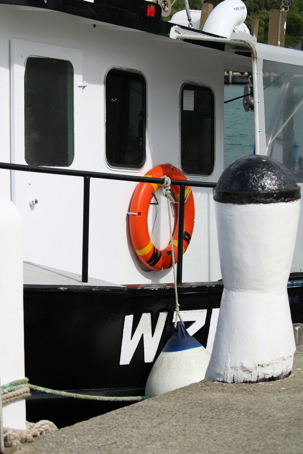
<svg viewBox="0 0 303 454"><path fill-rule="evenodd" d="M70 61L29 57L25 66L25 161L69 167L74 160L74 70Z"/></svg>

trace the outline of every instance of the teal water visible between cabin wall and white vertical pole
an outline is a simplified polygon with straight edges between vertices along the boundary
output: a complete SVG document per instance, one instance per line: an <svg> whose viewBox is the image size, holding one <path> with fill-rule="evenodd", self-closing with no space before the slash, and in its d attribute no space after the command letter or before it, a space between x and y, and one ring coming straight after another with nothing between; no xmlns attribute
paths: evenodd
<svg viewBox="0 0 303 454"><path fill-rule="evenodd" d="M243 93L243 85L225 85L224 101ZM243 99L224 104L224 169L236 159L253 154L253 148L253 112L245 112Z"/></svg>

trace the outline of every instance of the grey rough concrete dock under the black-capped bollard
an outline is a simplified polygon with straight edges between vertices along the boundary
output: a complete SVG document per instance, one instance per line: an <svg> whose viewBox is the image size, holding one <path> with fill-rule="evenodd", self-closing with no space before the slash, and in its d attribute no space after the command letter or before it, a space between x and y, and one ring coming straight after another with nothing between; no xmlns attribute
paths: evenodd
<svg viewBox="0 0 303 454"><path fill-rule="evenodd" d="M18 452L302 454L303 345L284 380L253 385L203 380L42 435Z"/></svg>

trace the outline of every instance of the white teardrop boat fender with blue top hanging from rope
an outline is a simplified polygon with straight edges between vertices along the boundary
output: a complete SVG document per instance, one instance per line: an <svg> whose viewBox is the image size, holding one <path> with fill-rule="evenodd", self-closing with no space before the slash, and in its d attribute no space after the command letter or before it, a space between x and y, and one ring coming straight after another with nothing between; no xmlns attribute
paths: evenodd
<svg viewBox="0 0 303 454"><path fill-rule="evenodd" d="M209 358L210 353L178 321L150 371L145 395L156 396L203 380Z"/></svg>

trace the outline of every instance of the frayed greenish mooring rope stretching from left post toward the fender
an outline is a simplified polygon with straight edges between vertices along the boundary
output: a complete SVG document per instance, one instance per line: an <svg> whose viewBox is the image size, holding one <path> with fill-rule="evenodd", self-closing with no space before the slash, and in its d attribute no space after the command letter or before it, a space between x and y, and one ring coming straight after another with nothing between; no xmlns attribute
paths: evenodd
<svg viewBox="0 0 303 454"><path fill-rule="evenodd" d="M30 385L28 381L29 381L28 378L25 378L23 380L12 381L7 385L2 385L1 394L29 387L30 390L32 391L41 391L47 394L55 394L64 397L73 397L74 399L103 400L109 402L139 402L140 400L148 399L148 397L145 396L93 396L89 394L69 393L67 391L59 391L52 390L50 388L44 388L43 386Z"/></svg>

